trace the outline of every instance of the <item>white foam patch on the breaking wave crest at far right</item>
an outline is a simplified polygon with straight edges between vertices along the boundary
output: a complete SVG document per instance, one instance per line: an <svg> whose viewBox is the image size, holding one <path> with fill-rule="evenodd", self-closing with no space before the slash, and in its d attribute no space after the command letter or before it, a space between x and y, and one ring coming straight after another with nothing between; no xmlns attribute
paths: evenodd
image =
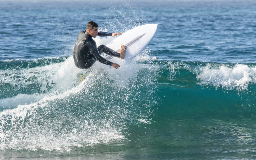
<svg viewBox="0 0 256 160"><path fill-rule="evenodd" d="M256 66L250 68L245 64L234 66L212 66L207 64L200 68L197 79L201 85L213 85L216 88L247 90L250 83L256 83Z"/></svg>

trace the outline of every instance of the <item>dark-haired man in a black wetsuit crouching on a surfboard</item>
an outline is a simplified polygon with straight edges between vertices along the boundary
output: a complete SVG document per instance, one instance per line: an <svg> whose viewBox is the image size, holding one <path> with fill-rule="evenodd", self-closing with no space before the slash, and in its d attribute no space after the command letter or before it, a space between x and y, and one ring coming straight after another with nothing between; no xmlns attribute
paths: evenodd
<svg viewBox="0 0 256 160"><path fill-rule="evenodd" d="M121 35L121 33L98 32L98 24L93 21L88 22L86 31L81 31L78 34L77 41L74 46L73 58L75 65L81 69L88 69L96 61L99 61L103 64L107 64L115 69L118 69L120 67L119 64L110 62L100 55L104 52L105 54L124 59L125 46L121 45L119 53L106 47L105 45L100 45L97 48L96 42L92 39L92 37L95 38L97 35L112 35L113 37L116 37L116 35Z"/></svg>

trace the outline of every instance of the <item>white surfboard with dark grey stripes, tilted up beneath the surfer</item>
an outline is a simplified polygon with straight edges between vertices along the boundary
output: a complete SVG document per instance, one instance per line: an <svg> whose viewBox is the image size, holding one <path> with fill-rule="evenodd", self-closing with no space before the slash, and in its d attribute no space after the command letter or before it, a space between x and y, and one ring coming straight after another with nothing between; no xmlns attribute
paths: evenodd
<svg viewBox="0 0 256 160"><path fill-rule="evenodd" d="M123 66L125 63L128 63L134 57L136 57L144 48L146 48L146 46L150 43L151 39L155 35L156 29L157 24L141 25L123 33L106 45L116 52L119 52L121 45L124 45L126 47L124 59L113 57L105 53L103 53L101 56L106 60L109 60L113 63L118 63L120 66ZM99 64L100 62L97 63ZM108 68L106 65L105 67Z"/></svg>

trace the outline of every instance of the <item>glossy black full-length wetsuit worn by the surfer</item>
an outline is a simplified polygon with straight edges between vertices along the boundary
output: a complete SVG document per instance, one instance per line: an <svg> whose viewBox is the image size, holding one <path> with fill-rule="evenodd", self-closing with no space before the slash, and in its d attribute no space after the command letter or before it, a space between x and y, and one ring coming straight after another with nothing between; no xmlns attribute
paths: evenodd
<svg viewBox="0 0 256 160"><path fill-rule="evenodd" d="M99 32L98 36L111 36L111 33ZM81 69L88 69L96 61L100 61L103 64L111 66L113 64L112 62L100 56L103 52L114 57L120 57L119 53L105 45L100 45L97 48L96 42L92 39L92 36L86 31L81 31L78 34L77 42L73 51L75 65Z"/></svg>

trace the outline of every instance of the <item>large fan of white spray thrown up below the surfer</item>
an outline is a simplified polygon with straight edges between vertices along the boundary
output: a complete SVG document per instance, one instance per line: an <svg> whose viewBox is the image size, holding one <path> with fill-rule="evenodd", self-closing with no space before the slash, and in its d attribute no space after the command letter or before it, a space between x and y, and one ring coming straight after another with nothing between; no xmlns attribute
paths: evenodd
<svg viewBox="0 0 256 160"><path fill-rule="evenodd" d="M124 139L126 126L142 118L148 121L147 116L153 112L151 98L155 97L157 68L136 61L109 72L95 66L77 84L81 70L73 68L72 63L69 57L61 63L15 72L37 78L29 83L42 85L38 90L49 80L53 86L46 92L31 92L38 97L31 104L19 104L20 94L13 97L16 102L10 105L14 109L1 112L1 149L68 151ZM38 72L49 76L35 76ZM42 77L45 79L40 80ZM22 96L29 99L30 94ZM5 108L10 98L2 99Z"/></svg>

